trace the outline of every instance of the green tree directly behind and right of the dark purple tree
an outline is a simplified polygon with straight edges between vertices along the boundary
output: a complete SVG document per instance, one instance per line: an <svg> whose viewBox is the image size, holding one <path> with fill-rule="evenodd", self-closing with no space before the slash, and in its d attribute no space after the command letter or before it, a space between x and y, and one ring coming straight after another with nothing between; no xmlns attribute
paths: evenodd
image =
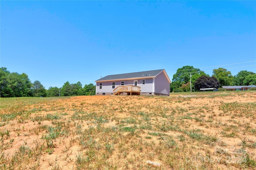
<svg viewBox="0 0 256 170"><path fill-rule="evenodd" d="M220 82L220 86L232 85L233 76L230 71L224 68L213 69L213 75Z"/></svg>

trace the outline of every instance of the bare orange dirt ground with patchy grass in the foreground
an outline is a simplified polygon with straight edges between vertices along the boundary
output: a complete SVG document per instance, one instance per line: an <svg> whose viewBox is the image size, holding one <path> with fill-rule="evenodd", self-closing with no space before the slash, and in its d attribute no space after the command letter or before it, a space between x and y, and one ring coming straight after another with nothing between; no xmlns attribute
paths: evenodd
<svg viewBox="0 0 256 170"><path fill-rule="evenodd" d="M253 91L27 100L1 101L1 169L256 168Z"/></svg>

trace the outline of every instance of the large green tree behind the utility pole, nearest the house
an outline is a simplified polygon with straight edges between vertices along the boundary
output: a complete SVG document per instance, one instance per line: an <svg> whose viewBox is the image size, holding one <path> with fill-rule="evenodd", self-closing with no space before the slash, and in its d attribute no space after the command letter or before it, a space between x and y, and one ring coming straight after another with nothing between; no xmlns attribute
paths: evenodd
<svg viewBox="0 0 256 170"><path fill-rule="evenodd" d="M191 74L191 83L193 86L193 82L196 81L198 77L201 75L206 75L204 71L200 69L194 68L193 66L183 66L182 68L177 69L176 74L173 75L172 83L170 85L170 91L176 91L182 86L182 84L190 83L190 74Z"/></svg>

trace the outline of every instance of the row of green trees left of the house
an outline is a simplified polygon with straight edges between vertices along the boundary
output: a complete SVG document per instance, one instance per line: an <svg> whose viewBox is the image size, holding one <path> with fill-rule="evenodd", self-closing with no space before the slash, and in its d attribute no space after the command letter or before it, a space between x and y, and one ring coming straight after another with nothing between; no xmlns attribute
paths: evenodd
<svg viewBox="0 0 256 170"><path fill-rule="evenodd" d="M68 81L60 88L45 89L40 81L32 83L26 73L10 73L6 67L0 68L0 97L57 97L95 95L95 85L84 85L80 81L70 84Z"/></svg>

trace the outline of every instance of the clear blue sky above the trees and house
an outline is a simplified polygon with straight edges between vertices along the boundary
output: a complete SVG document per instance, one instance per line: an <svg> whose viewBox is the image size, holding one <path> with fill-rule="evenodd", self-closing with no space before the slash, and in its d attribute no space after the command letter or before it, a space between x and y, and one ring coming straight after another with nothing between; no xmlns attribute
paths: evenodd
<svg viewBox="0 0 256 170"><path fill-rule="evenodd" d="M46 89L190 65L256 73L256 1L0 1L0 67Z"/></svg>

